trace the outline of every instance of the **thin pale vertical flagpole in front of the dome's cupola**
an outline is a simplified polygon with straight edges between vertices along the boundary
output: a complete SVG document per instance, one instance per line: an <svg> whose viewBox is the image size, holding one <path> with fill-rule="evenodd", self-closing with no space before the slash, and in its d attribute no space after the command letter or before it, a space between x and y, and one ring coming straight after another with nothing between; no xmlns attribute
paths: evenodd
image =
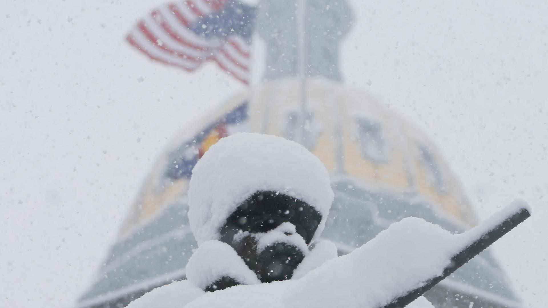
<svg viewBox="0 0 548 308"><path fill-rule="evenodd" d="M306 0L298 0L297 12L297 63L299 76L299 99L301 105L301 132L300 143L305 144L305 127L306 127L306 37L305 37L305 22L306 22Z"/></svg>

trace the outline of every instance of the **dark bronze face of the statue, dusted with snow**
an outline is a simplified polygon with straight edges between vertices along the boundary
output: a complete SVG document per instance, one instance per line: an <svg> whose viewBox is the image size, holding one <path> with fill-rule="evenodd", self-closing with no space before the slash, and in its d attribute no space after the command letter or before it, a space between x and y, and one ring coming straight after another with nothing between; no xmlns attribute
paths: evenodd
<svg viewBox="0 0 548 308"><path fill-rule="evenodd" d="M236 250L261 282L287 280L304 259L306 252L302 246L299 248L281 238L259 252L258 238L289 223L308 245L321 219L316 209L299 199L274 191L260 191L246 199L227 219L220 230L221 241ZM289 236L293 232L284 234Z"/></svg>

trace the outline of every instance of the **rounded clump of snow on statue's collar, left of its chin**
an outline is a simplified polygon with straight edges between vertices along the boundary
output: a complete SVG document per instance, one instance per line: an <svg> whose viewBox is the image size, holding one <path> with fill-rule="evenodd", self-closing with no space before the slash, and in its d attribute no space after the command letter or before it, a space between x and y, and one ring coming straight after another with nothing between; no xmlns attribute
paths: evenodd
<svg viewBox="0 0 548 308"><path fill-rule="evenodd" d="M220 241L203 242L186 264L186 278L200 289L206 289L223 276L241 284L261 283L255 273L229 244Z"/></svg>

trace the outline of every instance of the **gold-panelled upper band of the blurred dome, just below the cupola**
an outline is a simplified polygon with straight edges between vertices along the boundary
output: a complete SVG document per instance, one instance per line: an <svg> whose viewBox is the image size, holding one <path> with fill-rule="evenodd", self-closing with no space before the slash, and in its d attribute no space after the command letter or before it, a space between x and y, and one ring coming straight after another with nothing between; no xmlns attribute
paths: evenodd
<svg viewBox="0 0 548 308"><path fill-rule="evenodd" d="M306 85L307 107L318 129L314 135L315 146L310 150L331 174L346 174L352 179L363 181L366 185L390 191L414 191L462 223L469 226L475 223L470 204L461 191L459 181L438 155L432 142L412 125L385 109L369 95L349 90L340 83L321 78L307 78ZM169 152L174 151L181 142L192 138L234 107L248 100L249 131L286 137L283 134L283 126L288 121L287 112L292 109L299 110L299 93L299 82L295 79L258 85L250 92L233 96L219 111L183 130L175 139L173 147L164 153L153 169L141 192L141 198L134 206L133 214L126 220L122 235L151 219L160 209L186 194L186 179L174 181L161 190L157 187L154 189L154 184L160 182L164 176L165 164L161 162L165 162L165 157L169 157ZM353 135L357 117L371 119L381 126L381 133L387 146L386 159L374 161L363 155L359 140ZM202 142L202 149L207 151L218 140L218 132L210 132ZM417 142L426 146L436 159L438 172L443 179L443 190L429 180L424 162L419 158ZM340 160L337 159L338 155L341 155Z"/></svg>

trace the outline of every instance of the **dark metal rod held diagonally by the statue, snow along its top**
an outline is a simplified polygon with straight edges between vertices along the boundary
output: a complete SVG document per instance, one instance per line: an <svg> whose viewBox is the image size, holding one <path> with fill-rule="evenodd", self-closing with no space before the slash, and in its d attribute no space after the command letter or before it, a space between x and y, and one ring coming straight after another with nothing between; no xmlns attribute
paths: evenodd
<svg viewBox="0 0 548 308"><path fill-rule="evenodd" d="M504 219L503 221L496 224L492 228L482 232L478 236L478 238L472 242L470 246L466 247L464 250L462 250L458 254L455 254L453 258L451 258L451 262L449 266L447 266L443 270L442 275L431 278L429 281L427 281L424 284L423 287L411 290L410 292L402 296L399 296L398 298L392 300L389 304L381 308L402 308L409 305L412 301L419 298L419 296L423 295L427 290L430 290L433 286L436 286L438 282L444 280L447 276L451 275L459 267L463 266L465 263L470 261L470 259L472 259L474 256L478 255L484 249L489 247L490 244L493 244L495 241L503 237L510 230L515 228L517 225L521 224L524 220L529 218L530 215L531 214L529 213L529 210L527 208L522 207L516 210L516 212L514 212L508 218ZM471 231L467 231L467 232L471 232Z"/></svg>

